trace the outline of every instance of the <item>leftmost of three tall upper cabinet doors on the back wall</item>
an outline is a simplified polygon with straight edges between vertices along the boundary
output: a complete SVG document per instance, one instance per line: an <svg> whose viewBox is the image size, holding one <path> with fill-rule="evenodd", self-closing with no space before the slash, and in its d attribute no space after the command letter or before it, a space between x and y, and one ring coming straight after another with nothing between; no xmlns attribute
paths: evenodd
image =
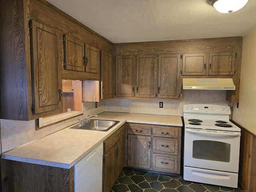
<svg viewBox="0 0 256 192"><path fill-rule="evenodd" d="M116 96L134 97L135 56L116 56Z"/></svg>

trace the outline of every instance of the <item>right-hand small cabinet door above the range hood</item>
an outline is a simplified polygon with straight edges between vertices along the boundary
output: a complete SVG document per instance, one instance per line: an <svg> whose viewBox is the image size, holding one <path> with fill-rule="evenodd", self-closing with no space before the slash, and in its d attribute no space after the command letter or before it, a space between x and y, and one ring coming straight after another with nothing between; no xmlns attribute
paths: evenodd
<svg viewBox="0 0 256 192"><path fill-rule="evenodd" d="M235 52L209 54L209 75L234 75Z"/></svg>

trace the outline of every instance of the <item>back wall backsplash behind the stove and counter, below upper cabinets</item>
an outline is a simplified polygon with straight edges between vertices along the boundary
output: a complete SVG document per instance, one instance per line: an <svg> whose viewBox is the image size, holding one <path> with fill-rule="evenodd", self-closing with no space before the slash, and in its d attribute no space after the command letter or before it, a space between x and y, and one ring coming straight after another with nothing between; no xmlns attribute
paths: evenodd
<svg viewBox="0 0 256 192"><path fill-rule="evenodd" d="M105 111L183 116L184 104L228 105L226 91L222 90L183 90L182 96L181 101L111 99L105 101ZM159 102L163 102L163 108L159 108Z"/></svg>

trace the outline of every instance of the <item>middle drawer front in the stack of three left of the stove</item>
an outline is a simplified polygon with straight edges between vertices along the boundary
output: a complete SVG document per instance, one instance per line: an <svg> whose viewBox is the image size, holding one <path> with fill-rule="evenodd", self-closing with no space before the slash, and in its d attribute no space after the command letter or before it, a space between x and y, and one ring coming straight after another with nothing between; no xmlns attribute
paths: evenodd
<svg viewBox="0 0 256 192"><path fill-rule="evenodd" d="M178 155L178 139L153 137L153 153Z"/></svg>

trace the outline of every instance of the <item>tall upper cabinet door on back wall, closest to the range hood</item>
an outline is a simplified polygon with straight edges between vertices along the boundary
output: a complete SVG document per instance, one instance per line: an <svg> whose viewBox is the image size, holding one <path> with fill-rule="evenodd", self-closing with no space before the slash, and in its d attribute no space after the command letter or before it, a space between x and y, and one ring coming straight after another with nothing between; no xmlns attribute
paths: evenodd
<svg viewBox="0 0 256 192"><path fill-rule="evenodd" d="M180 54L159 55L157 97L180 97Z"/></svg>

